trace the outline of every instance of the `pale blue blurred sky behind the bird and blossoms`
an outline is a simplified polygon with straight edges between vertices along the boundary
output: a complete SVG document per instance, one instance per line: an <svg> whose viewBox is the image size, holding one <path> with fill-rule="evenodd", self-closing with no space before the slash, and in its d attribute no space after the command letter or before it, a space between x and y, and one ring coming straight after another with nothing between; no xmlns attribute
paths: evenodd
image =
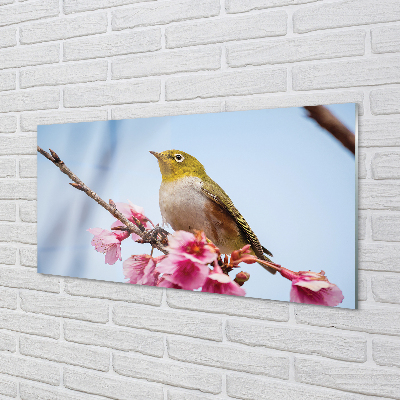
<svg viewBox="0 0 400 400"><path fill-rule="evenodd" d="M327 107L355 131L355 104ZM162 222L161 174L149 151L193 155L274 254L274 262L294 271L324 270L343 291L340 307L355 308L354 156L303 108L42 125L38 145L56 151L105 201L130 200L155 224ZM124 282L122 261L105 264L87 232L110 230L114 218L69 182L38 154L38 272ZM149 252L150 245L130 238L122 243L123 260ZM258 264L243 270L250 273L243 286L247 297L289 300L291 283L279 274L272 276Z"/></svg>

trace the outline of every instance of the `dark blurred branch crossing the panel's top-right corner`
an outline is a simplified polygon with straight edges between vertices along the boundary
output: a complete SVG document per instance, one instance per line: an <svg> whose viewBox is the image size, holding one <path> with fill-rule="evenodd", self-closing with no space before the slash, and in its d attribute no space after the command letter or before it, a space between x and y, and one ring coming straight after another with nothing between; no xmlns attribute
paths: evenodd
<svg viewBox="0 0 400 400"><path fill-rule="evenodd" d="M356 137L338 118L324 106L306 106L308 117L331 133L344 147L355 154Z"/></svg>

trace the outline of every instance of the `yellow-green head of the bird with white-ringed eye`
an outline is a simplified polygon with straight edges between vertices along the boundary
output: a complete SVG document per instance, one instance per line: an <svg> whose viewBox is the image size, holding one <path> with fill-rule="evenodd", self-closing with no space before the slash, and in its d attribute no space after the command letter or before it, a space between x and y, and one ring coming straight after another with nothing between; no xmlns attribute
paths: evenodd
<svg viewBox="0 0 400 400"><path fill-rule="evenodd" d="M183 176L206 175L203 165L196 158L180 150L166 150L161 153L150 151L158 160L163 181L174 181Z"/></svg>

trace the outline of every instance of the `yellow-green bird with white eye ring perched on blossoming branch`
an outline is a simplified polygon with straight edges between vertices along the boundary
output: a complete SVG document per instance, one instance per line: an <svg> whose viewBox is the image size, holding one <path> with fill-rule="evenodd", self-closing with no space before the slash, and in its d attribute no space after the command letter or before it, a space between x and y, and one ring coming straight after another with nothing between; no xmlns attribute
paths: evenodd
<svg viewBox="0 0 400 400"><path fill-rule="evenodd" d="M159 201L163 222L175 231L204 231L222 254L250 244L258 258L271 261L265 255L272 256L271 252L261 246L232 200L196 158L180 150L150 153L158 159L162 175Z"/></svg>

